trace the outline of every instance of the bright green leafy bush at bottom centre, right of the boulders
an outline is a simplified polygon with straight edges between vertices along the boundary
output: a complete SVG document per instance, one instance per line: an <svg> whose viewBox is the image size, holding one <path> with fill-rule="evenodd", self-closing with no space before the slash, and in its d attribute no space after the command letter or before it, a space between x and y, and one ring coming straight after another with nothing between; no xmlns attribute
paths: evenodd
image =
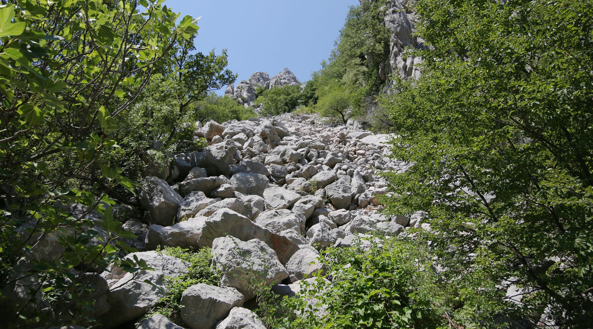
<svg viewBox="0 0 593 329"><path fill-rule="evenodd" d="M450 284L433 267L426 244L375 236L353 247L327 249L317 275L279 309L274 328L445 328L493 324L505 302L483 273ZM460 305L463 305L460 307ZM295 316L291 316L294 314Z"/></svg>

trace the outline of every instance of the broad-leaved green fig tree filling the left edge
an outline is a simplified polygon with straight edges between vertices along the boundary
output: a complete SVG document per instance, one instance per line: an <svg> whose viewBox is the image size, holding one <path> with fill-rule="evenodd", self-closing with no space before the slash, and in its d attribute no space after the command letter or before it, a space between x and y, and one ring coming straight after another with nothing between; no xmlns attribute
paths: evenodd
<svg viewBox="0 0 593 329"><path fill-rule="evenodd" d="M7 2L4 1L4 4ZM142 260L106 192L78 178L116 144L116 118L196 20L162 1L11 1L0 8L0 284L4 327L88 324L94 273ZM100 167L103 185L133 183ZM78 214L72 214L76 205ZM89 214L93 217L88 217ZM43 247L42 247L43 246ZM44 250L55 254L44 254Z"/></svg>

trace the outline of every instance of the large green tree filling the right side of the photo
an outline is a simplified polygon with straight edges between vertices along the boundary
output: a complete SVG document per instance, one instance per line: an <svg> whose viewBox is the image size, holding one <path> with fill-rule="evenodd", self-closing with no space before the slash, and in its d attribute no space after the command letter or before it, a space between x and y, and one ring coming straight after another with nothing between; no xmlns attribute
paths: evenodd
<svg viewBox="0 0 593 329"><path fill-rule="evenodd" d="M392 212L423 210L445 280L512 282L539 325L593 323L593 2L421 0L425 74L382 103ZM460 275L461 273L461 275ZM540 315L544 314L543 317ZM550 321L546 324L546 321Z"/></svg>

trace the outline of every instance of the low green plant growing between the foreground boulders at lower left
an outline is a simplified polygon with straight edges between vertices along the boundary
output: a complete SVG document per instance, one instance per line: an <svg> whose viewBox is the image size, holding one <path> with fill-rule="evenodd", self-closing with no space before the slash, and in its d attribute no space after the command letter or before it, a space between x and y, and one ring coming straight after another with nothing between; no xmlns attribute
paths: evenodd
<svg viewBox="0 0 593 329"><path fill-rule="evenodd" d="M217 270L211 267L212 254L209 248L192 251L180 247L165 247L159 252L181 259L189 263L190 267L187 273L177 276L177 278L165 278L165 286L168 291L167 296L162 297L157 306L152 308L136 323L136 327L139 327L142 320L152 317L154 314L165 315L165 317L174 323L182 324L180 311L183 306L179 302L181 301L183 292L197 283L206 283L212 286L219 285L218 279L220 275Z"/></svg>

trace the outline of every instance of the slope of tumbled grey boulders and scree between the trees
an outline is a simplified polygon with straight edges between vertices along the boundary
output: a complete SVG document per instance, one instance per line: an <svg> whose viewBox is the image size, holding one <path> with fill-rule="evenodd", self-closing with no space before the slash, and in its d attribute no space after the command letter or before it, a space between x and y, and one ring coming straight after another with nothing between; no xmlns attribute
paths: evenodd
<svg viewBox="0 0 593 329"><path fill-rule="evenodd" d="M190 286L181 298L187 327L263 328L243 306L253 298L252 279L294 295L307 276L324 267L328 246L350 246L372 231L395 236L419 227L419 217L386 218L377 195L387 193L377 170L407 170L388 157L387 135L320 121L317 115L283 114L247 121L210 121L196 131L209 146L177 154L166 180L146 177L139 191L145 214L124 227L139 235L144 259L154 271L132 278L104 272L109 285L107 328L135 320L167 293L164 278L187 272L159 246L211 247L220 286ZM145 282L149 280L149 282ZM161 328L155 315L142 328ZM172 324L171 324L172 325Z"/></svg>

